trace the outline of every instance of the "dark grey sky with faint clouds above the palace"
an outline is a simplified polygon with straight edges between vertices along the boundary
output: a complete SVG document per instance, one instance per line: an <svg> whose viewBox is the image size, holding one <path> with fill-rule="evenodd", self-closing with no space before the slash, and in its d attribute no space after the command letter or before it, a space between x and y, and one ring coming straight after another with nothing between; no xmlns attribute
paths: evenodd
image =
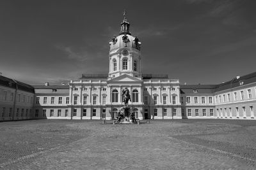
<svg viewBox="0 0 256 170"><path fill-rule="evenodd" d="M127 11L143 73L218 84L256 71L256 1L0 1L0 72L31 85L109 72Z"/></svg>

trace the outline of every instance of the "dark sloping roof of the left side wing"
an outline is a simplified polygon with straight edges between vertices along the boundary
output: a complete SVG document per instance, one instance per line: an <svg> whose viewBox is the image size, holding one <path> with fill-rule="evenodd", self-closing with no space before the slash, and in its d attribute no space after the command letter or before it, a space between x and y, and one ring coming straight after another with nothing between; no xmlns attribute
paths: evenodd
<svg viewBox="0 0 256 170"><path fill-rule="evenodd" d="M16 89L16 85L17 85L18 90L35 93L35 90L31 85L22 83L21 81L13 80L12 78L7 78L5 76L0 76L0 85L3 85L4 87L9 87L12 89Z"/></svg>

